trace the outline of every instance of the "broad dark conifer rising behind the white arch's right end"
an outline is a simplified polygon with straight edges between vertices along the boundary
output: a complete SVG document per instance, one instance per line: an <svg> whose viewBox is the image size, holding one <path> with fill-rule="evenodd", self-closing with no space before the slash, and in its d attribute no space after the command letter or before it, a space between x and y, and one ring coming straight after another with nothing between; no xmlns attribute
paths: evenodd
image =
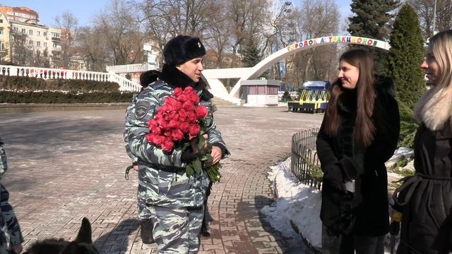
<svg viewBox="0 0 452 254"><path fill-rule="evenodd" d="M393 11L398 7L399 0L352 0L351 10L355 16L347 29L350 35L369 37L386 41L391 32ZM377 73L385 73L387 52L383 49L372 48Z"/></svg>

